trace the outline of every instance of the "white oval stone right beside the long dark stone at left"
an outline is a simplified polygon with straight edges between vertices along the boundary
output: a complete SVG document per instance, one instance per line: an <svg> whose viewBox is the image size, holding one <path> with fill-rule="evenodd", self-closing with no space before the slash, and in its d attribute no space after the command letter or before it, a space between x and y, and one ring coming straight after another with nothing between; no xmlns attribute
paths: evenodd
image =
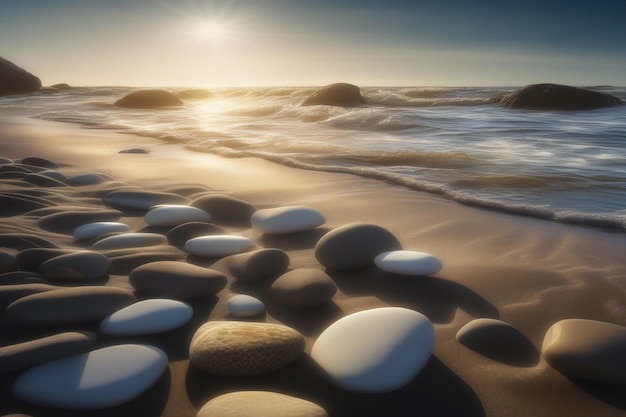
<svg viewBox="0 0 626 417"><path fill-rule="evenodd" d="M156 298L139 301L111 314L100 323L109 336L139 336L174 330L187 323L193 309L177 300Z"/></svg>

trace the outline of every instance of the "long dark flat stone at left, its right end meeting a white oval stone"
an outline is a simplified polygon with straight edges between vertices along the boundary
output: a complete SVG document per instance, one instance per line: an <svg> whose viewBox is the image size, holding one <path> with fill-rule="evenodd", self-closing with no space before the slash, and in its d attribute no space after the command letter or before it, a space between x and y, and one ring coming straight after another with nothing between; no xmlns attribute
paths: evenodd
<svg viewBox="0 0 626 417"><path fill-rule="evenodd" d="M102 320L135 301L134 294L123 288L61 288L27 295L14 301L6 308L4 317L26 327L71 326Z"/></svg>

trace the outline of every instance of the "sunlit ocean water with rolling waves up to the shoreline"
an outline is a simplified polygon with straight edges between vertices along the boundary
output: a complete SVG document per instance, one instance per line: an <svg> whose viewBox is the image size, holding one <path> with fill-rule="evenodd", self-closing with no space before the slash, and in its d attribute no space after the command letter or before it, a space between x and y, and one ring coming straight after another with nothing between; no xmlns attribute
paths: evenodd
<svg viewBox="0 0 626 417"><path fill-rule="evenodd" d="M594 86L626 102L626 88ZM228 158L351 173L462 204L626 231L626 106L503 108L515 88L365 87L367 106L302 106L316 88L164 88L185 106L123 109L133 87L0 97L4 115L77 123Z"/></svg>

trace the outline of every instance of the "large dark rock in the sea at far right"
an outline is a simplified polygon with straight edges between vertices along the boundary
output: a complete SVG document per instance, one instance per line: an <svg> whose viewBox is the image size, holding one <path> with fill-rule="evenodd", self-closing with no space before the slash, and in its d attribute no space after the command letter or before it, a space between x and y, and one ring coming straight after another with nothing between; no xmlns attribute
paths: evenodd
<svg viewBox="0 0 626 417"><path fill-rule="evenodd" d="M531 110L592 110L624 104L609 94L558 84L531 84L505 95L504 107Z"/></svg>

